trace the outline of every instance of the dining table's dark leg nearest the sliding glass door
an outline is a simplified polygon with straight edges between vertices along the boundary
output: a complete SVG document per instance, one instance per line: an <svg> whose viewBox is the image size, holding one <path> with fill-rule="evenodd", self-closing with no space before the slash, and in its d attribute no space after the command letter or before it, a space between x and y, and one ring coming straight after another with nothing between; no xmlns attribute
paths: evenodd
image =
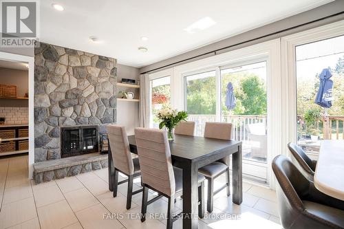
<svg viewBox="0 0 344 229"><path fill-rule="evenodd" d="M237 153L232 155L233 166L233 203L241 204L242 202L242 146L238 146Z"/></svg>

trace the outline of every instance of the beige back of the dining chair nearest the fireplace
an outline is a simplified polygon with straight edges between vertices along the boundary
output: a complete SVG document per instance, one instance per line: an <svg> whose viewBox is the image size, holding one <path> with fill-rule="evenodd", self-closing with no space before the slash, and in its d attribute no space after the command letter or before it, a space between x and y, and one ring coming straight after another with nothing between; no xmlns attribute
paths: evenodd
<svg viewBox="0 0 344 229"><path fill-rule="evenodd" d="M131 158L125 127L109 124L107 125L107 135L115 168L128 175L133 175L133 159Z"/></svg>

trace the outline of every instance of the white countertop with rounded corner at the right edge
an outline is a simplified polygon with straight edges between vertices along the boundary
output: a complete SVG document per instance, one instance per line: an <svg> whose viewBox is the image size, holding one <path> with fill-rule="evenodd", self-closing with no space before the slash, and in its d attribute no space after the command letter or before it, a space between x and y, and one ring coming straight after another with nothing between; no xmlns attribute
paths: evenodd
<svg viewBox="0 0 344 229"><path fill-rule="evenodd" d="M321 141L314 186L322 193L344 201L344 140Z"/></svg>

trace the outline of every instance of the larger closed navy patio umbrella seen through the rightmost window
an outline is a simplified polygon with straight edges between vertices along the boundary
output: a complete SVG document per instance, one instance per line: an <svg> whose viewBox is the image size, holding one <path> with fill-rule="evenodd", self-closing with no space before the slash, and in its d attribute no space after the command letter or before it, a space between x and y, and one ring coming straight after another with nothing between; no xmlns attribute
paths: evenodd
<svg viewBox="0 0 344 229"><path fill-rule="evenodd" d="M330 80L332 74L330 72L330 69L323 69L321 72L319 79L320 79L320 85L319 85L319 91L318 94L316 94L315 103L321 107L330 108L332 107L332 87L333 87L333 81Z"/></svg>

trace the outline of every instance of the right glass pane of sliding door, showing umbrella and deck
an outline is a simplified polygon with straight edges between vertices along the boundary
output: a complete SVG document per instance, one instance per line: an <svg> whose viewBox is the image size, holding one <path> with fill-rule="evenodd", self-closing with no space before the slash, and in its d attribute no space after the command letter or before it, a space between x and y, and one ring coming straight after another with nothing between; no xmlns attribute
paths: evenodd
<svg viewBox="0 0 344 229"><path fill-rule="evenodd" d="M235 102L229 99L229 83ZM244 160L266 163L266 61L222 69L221 102L221 120L233 124L233 139L243 142Z"/></svg>

